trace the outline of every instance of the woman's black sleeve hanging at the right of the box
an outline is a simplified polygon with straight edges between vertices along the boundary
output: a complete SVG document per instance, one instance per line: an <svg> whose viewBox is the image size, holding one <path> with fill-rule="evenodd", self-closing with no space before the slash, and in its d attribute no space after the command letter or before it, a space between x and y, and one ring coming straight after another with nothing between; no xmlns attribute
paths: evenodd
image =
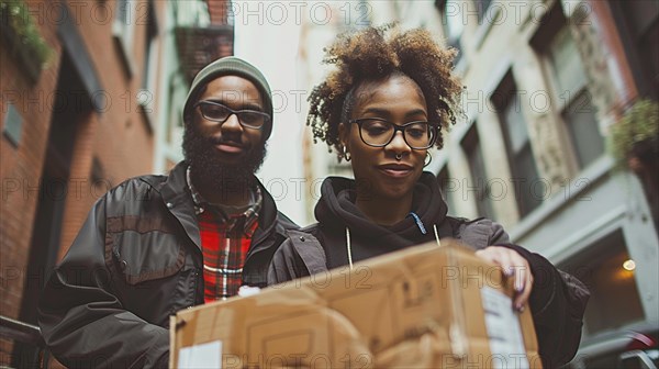
<svg viewBox="0 0 659 369"><path fill-rule="evenodd" d="M530 265L534 283L528 303L544 367L556 368L569 362L581 342L589 290L543 256L517 245L501 246L514 249Z"/></svg>

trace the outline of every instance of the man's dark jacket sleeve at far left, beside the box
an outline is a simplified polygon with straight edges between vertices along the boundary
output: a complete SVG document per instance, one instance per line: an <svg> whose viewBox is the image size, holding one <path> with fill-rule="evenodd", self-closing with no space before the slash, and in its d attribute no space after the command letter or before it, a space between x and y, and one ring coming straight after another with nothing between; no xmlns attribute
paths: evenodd
<svg viewBox="0 0 659 369"><path fill-rule="evenodd" d="M168 329L126 311L113 291L104 199L46 282L38 303L42 335L67 367L167 367Z"/></svg>

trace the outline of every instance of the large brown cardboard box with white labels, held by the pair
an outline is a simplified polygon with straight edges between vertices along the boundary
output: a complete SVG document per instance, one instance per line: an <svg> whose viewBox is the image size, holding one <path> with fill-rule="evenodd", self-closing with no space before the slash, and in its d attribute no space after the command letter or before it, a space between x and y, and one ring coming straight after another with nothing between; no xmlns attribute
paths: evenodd
<svg viewBox="0 0 659 369"><path fill-rule="evenodd" d="M455 241L171 317L170 367L539 368L529 309Z"/></svg>

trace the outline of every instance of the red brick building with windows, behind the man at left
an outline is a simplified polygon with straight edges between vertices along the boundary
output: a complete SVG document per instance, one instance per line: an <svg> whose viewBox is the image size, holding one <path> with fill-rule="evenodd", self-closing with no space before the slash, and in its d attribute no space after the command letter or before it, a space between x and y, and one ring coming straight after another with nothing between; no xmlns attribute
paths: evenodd
<svg viewBox="0 0 659 369"><path fill-rule="evenodd" d="M163 78L179 69L176 22L209 12L186 1L177 18L176 2L154 0L0 8L0 315L35 324L41 289L96 200L153 172L180 90ZM31 366L24 353L1 339L0 366Z"/></svg>

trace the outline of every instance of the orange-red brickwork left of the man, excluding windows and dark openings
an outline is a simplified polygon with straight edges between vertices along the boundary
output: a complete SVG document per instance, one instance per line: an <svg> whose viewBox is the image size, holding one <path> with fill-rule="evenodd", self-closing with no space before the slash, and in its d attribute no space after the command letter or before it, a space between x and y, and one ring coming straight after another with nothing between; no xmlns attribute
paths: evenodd
<svg viewBox="0 0 659 369"><path fill-rule="evenodd" d="M0 124L4 125L11 102L23 116L22 137L14 145L0 137L0 314L19 317L24 277L29 259L32 228L38 203L37 186L45 163L52 118L52 96L56 90L63 55L57 26L60 5L51 1L26 1L31 14L53 56L35 85L31 85L5 45L0 47ZM115 14L114 1L69 2L69 16L87 47L98 75L107 104L102 112L91 111L81 116L77 126L70 163L62 225L59 258L78 233L87 213L108 183L119 185L126 178L148 174L153 163L153 133L136 102L144 74L146 0L139 1L129 21L134 27L130 49L131 72L122 62L120 47L113 38L110 15ZM155 1L159 32L164 32L166 2ZM104 7L110 7L109 9ZM76 57L76 56L72 56ZM156 99L155 91L152 97ZM152 103L152 105L155 105ZM155 112L157 114L158 112ZM157 120L153 118L153 122ZM97 175L91 178L97 163ZM100 169L100 170L99 170ZM0 342L0 366L9 364L11 343Z"/></svg>

